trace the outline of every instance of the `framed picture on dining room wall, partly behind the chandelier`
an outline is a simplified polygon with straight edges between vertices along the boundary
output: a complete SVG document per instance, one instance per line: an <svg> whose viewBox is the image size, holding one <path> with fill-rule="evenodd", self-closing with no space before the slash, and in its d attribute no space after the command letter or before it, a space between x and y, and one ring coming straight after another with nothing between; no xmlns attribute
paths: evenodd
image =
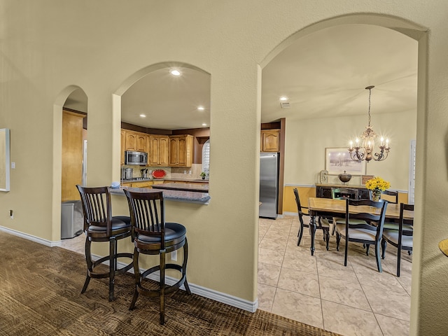
<svg viewBox="0 0 448 336"><path fill-rule="evenodd" d="M353 161L346 147L325 148L325 170L328 174L341 174L344 171L351 175L365 174L365 161Z"/></svg>

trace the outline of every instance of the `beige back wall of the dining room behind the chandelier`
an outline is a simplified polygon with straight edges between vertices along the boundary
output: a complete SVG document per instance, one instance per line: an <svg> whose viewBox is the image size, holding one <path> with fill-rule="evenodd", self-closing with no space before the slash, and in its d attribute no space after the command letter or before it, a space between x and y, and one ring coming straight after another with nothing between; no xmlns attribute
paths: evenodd
<svg viewBox="0 0 448 336"><path fill-rule="evenodd" d="M318 182L318 173L325 169L325 147L348 148L350 139L359 136L366 125L367 112L356 117L286 120L285 184ZM391 182L391 189L407 191L410 143L416 139L416 111L373 114L372 125L378 134L390 134L391 153L385 161L370 161L366 174L381 176ZM340 183L337 176L330 179ZM350 183L360 184L359 177L353 176Z"/></svg>

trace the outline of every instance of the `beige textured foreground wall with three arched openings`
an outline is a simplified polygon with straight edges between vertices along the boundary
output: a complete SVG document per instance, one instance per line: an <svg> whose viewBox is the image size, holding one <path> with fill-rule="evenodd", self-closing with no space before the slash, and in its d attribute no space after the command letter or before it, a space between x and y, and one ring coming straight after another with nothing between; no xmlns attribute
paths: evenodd
<svg viewBox="0 0 448 336"><path fill-rule="evenodd" d="M59 239L58 113L71 90L81 87L88 98L88 183L109 184L120 176L120 116L113 104L119 97L113 92L151 64L193 64L211 73L212 200L202 207L172 204L170 219L186 224L191 236L191 281L248 301L255 300L257 291L260 66L294 38L338 23L383 25L419 39L416 221L424 218L424 225L414 237L411 333L445 335L448 259L437 243L448 237L447 1L0 4L0 127L11 130L11 161L16 163L11 191L0 195L0 225L48 241ZM393 141L393 151L400 153L395 148ZM319 167L321 160L316 157L309 165ZM229 179L235 162L245 174ZM123 202L116 204L116 211L125 211ZM13 220L8 209L15 211Z"/></svg>

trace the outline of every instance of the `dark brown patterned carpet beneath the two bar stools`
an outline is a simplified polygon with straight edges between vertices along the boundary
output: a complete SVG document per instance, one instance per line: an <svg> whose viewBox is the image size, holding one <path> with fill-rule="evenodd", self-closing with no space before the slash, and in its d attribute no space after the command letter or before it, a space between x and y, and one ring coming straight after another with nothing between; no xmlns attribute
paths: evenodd
<svg viewBox="0 0 448 336"><path fill-rule="evenodd" d="M92 279L84 294L84 256L0 232L0 335L337 335L258 309L255 313L183 290L168 295L165 325L158 299L134 293L133 274Z"/></svg>

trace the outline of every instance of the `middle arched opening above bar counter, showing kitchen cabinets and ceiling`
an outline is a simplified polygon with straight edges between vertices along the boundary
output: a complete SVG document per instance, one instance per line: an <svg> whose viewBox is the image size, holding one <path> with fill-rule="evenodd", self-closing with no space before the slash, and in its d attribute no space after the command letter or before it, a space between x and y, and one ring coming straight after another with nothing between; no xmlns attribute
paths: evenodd
<svg viewBox="0 0 448 336"><path fill-rule="evenodd" d="M179 74L173 75L173 70ZM196 66L164 62L137 71L121 85L113 95L113 110L120 115L122 140L125 137L117 167L132 172L125 182L129 177L151 179L152 172L161 170L165 179L200 179L202 146L210 138L210 80L210 74ZM138 151L148 154L143 167L124 160L124 153L132 151L127 139L134 134L143 139ZM181 137L188 137L185 153Z"/></svg>

